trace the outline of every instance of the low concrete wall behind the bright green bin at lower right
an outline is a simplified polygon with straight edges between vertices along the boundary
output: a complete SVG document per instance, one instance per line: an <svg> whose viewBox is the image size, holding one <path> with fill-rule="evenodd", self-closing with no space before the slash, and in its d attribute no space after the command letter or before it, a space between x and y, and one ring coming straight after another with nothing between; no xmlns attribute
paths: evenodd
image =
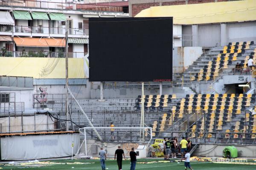
<svg viewBox="0 0 256 170"><path fill-rule="evenodd" d="M224 144L200 144L198 148L192 154L193 156L207 156L207 157L215 157L221 156L222 151L225 147L230 146ZM240 157L256 157L256 145L233 145L237 148L237 151Z"/></svg>

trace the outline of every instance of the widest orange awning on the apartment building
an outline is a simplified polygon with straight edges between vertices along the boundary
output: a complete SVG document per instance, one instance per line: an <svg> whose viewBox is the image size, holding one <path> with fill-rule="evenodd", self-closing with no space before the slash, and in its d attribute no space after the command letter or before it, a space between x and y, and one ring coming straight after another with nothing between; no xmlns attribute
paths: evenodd
<svg viewBox="0 0 256 170"><path fill-rule="evenodd" d="M48 44L44 38L14 37L13 40L17 46L48 47Z"/></svg>

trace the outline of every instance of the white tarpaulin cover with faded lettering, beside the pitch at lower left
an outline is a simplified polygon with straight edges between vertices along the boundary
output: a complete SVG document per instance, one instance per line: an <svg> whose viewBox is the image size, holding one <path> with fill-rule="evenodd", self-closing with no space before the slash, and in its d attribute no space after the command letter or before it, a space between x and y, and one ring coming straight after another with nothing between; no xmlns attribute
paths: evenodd
<svg viewBox="0 0 256 170"><path fill-rule="evenodd" d="M58 158L72 155L80 145L79 133L0 138L2 160Z"/></svg>

